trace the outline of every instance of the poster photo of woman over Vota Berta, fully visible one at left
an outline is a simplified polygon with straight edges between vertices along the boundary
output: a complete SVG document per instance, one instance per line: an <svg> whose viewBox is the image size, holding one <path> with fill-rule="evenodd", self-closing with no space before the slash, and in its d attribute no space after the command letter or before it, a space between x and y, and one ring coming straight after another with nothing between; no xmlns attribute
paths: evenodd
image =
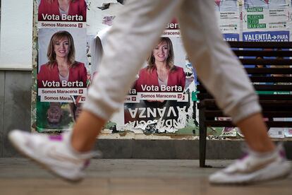
<svg viewBox="0 0 292 195"><path fill-rule="evenodd" d="M37 86L39 88L86 88L85 48L85 30L39 29Z"/></svg>

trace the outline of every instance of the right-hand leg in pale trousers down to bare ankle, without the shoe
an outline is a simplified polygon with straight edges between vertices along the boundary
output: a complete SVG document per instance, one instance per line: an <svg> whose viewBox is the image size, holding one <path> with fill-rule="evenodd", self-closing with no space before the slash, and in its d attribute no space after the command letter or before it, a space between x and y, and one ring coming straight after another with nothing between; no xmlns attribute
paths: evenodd
<svg viewBox="0 0 292 195"><path fill-rule="evenodd" d="M250 148L273 150L274 143L267 136L253 86L243 66L222 39L214 20L214 3L185 1L182 10L179 22L183 43L200 80L224 113L241 129Z"/></svg>

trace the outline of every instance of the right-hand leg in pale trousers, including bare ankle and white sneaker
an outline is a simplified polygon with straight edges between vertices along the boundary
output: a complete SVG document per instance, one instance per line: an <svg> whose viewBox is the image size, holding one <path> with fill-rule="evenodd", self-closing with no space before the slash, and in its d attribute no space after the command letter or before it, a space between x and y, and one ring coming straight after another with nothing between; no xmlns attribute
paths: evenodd
<svg viewBox="0 0 292 195"><path fill-rule="evenodd" d="M267 135L257 95L243 66L226 45L216 23L214 2L184 1L179 13L183 43L200 81L245 136L242 160L214 173L214 184L250 183L284 177L291 166Z"/></svg>

